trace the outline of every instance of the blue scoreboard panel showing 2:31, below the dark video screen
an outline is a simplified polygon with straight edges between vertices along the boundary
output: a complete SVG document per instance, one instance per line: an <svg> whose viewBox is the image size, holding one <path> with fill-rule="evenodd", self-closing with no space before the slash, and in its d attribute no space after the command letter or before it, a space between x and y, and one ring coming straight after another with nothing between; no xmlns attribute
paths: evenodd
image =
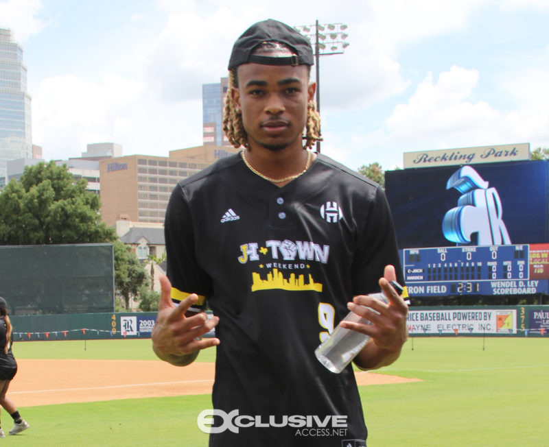
<svg viewBox="0 0 549 447"><path fill-rule="evenodd" d="M466 245L402 250L411 296L548 293L549 280L530 278L530 245Z"/></svg>

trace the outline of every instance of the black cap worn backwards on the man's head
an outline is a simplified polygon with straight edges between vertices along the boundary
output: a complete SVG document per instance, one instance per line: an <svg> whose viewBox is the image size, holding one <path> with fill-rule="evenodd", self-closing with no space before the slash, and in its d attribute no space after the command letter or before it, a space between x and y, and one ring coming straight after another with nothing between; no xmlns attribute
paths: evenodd
<svg viewBox="0 0 549 447"><path fill-rule="evenodd" d="M294 54L288 57L272 58L252 54L253 50L264 42L278 42L287 45ZM229 70L242 64L263 65L312 65L313 50L309 40L285 23L268 19L250 26L240 36L229 59Z"/></svg>

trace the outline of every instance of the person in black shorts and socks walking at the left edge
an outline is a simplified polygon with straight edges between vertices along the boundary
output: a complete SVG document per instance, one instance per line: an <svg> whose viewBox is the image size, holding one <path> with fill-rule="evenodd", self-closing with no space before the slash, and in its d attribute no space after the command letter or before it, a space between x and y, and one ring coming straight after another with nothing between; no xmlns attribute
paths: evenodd
<svg viewBox="0 0 549 447"><path fill-rule="evenodd" d="M8 411L13 419L14 425L10 430L10 435L16 435L30 428L30 425L21 418L13 400L5 396L12 379L17 373L17 362L13 356L12 344L13 331L8 316L8 303L0 297L0 405L5 411ZM0 428L0 437L5 437L2 428Z"/></svg>

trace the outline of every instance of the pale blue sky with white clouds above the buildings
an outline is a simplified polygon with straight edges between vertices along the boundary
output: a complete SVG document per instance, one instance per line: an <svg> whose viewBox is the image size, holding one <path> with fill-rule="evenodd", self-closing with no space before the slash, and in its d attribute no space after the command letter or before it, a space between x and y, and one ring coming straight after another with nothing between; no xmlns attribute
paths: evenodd
<svg viewBox="0 0 549 447"><path fill-rule="evenodd" d="M23 46L46 159L112 141L167 156L202 143L202 84L252 23L346 23L320 58L323 154L352 169L430 149L549 147L549 0L0 0Z"/></svg>

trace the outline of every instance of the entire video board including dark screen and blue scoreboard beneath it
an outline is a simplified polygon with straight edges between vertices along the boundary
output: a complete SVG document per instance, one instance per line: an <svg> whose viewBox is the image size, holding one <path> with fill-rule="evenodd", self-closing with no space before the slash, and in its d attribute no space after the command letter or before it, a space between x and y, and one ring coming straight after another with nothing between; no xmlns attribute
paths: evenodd
<svg viewBox="0 0 549 447"><path fill-rule="evenodd" d="M411 296L549 291L548 162L386 172Z"/></svg>

